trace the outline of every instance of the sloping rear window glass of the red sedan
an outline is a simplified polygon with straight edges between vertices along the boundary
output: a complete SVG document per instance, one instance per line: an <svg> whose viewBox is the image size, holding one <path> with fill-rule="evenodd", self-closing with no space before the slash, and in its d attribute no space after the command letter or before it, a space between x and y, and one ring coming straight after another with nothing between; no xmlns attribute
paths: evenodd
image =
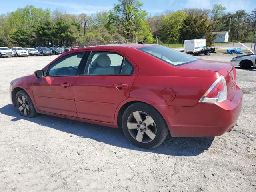
<svg viewBox="0 0 256 192"><path fill-rule="evenodd" d="M186 53L182 53L164 46L145 46L138 49L174 66L198 60L198 58L190 56Z"/></svg>

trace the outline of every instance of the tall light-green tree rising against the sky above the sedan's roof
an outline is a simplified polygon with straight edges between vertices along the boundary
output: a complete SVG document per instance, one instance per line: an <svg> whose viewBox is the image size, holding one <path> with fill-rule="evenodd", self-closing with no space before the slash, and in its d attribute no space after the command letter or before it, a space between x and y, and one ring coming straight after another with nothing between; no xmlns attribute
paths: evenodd
<svg viewBox="0 0 256 192"><path fill-rule="evenodd" d="M146 20L147 12L141 9L142 6L138 0L119 0L119 4L114 4L113 10L109 12L109 22L131 40L136 37L140 25Z"/></svg>

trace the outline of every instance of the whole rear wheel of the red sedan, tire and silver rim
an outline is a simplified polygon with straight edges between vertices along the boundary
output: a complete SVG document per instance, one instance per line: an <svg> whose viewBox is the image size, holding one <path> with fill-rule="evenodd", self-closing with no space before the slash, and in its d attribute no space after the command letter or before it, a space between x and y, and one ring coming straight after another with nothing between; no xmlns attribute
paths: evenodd
<svg viewBox="0 0 256 192"><path fill-rule="evenodd" d="M141 148L156 148L168 134L162 115L145 103L134 103L124 111L122 128L126 137Z"/></svg>

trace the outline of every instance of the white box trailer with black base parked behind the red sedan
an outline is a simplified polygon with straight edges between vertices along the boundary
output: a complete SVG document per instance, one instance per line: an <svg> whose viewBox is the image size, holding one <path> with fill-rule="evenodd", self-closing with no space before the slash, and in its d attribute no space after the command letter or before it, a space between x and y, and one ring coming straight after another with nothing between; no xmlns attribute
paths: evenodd
<svg viewBox="0 0 256 192"><path fill-rule="evenodd" d="M190 39L184 41L184 52L188 54L205 54L210 55L214 48L206 49L206 39Z"/></svg>

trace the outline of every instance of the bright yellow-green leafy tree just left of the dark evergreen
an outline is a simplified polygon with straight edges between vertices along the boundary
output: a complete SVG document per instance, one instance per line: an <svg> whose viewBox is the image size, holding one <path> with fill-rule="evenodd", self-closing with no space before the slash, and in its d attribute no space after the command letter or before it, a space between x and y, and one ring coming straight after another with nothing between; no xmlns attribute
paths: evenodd
<svg viewBox="0 0 256 192"><path fill-rule="evenodd" d="M177 43L180 39L180 28L187 18L184 11L174 12L162 20L159 36L162 42Z"/></svg>

